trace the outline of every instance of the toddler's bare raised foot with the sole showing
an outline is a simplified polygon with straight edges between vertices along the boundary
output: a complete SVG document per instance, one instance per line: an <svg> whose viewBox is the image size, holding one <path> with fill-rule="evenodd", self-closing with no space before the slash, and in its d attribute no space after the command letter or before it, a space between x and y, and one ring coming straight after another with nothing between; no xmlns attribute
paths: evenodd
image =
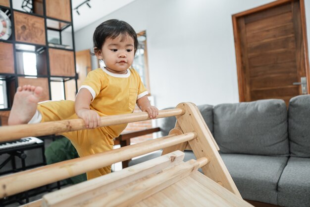
<svg viewBox="0 0 310 207"><path fill-rule="evenodd" d="M8 117L8 125L27 124L36 113L43 88L33 85L18 87Z"/></svg>

